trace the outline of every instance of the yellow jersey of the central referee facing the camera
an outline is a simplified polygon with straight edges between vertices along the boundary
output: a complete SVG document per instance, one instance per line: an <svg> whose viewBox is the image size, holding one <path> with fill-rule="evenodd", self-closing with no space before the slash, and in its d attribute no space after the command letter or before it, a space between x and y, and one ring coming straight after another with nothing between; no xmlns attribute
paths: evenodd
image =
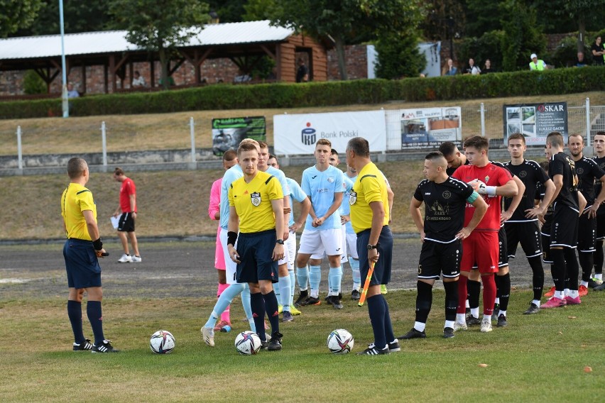
<svg viewBox="0 0 605 403"><path fill-rule="evenodd" d="M244 177L231 183L229 206L235 206L239 216L239 231L254 233L276 228L271 200L283 199L283 190L276 177L258 171L256 177L246 183Z"/></svg>

